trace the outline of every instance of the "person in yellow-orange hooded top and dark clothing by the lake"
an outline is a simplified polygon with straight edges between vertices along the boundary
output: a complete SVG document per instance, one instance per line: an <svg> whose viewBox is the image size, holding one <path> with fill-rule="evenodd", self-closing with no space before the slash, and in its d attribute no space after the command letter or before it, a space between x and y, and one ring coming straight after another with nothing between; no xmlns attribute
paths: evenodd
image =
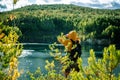
<svg viewBox="0 0 120 80"><path fill-rule="evenodd" d="M65 52L67 52L69 65L65 69L65 76L67 77L71 70L79 72L77 59L81 56L80 38L76 31L70 31L65 36L59 36L58 41L65 46Z"/></svg>

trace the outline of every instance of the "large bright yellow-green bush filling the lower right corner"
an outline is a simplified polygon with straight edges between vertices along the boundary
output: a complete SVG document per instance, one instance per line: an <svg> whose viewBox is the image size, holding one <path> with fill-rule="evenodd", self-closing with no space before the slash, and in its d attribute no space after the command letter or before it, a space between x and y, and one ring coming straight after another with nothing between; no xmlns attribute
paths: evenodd
<svg viewBox="0 0 120 80"><path fill-rule="evenodd" d="M88 79L92 80L116 80L118 79L113 73L114 69L120 65L120 51L116 50L115 45L104 48L103 58L96 59L93 50L90 51L88 66L84 70Z"/></svg>

